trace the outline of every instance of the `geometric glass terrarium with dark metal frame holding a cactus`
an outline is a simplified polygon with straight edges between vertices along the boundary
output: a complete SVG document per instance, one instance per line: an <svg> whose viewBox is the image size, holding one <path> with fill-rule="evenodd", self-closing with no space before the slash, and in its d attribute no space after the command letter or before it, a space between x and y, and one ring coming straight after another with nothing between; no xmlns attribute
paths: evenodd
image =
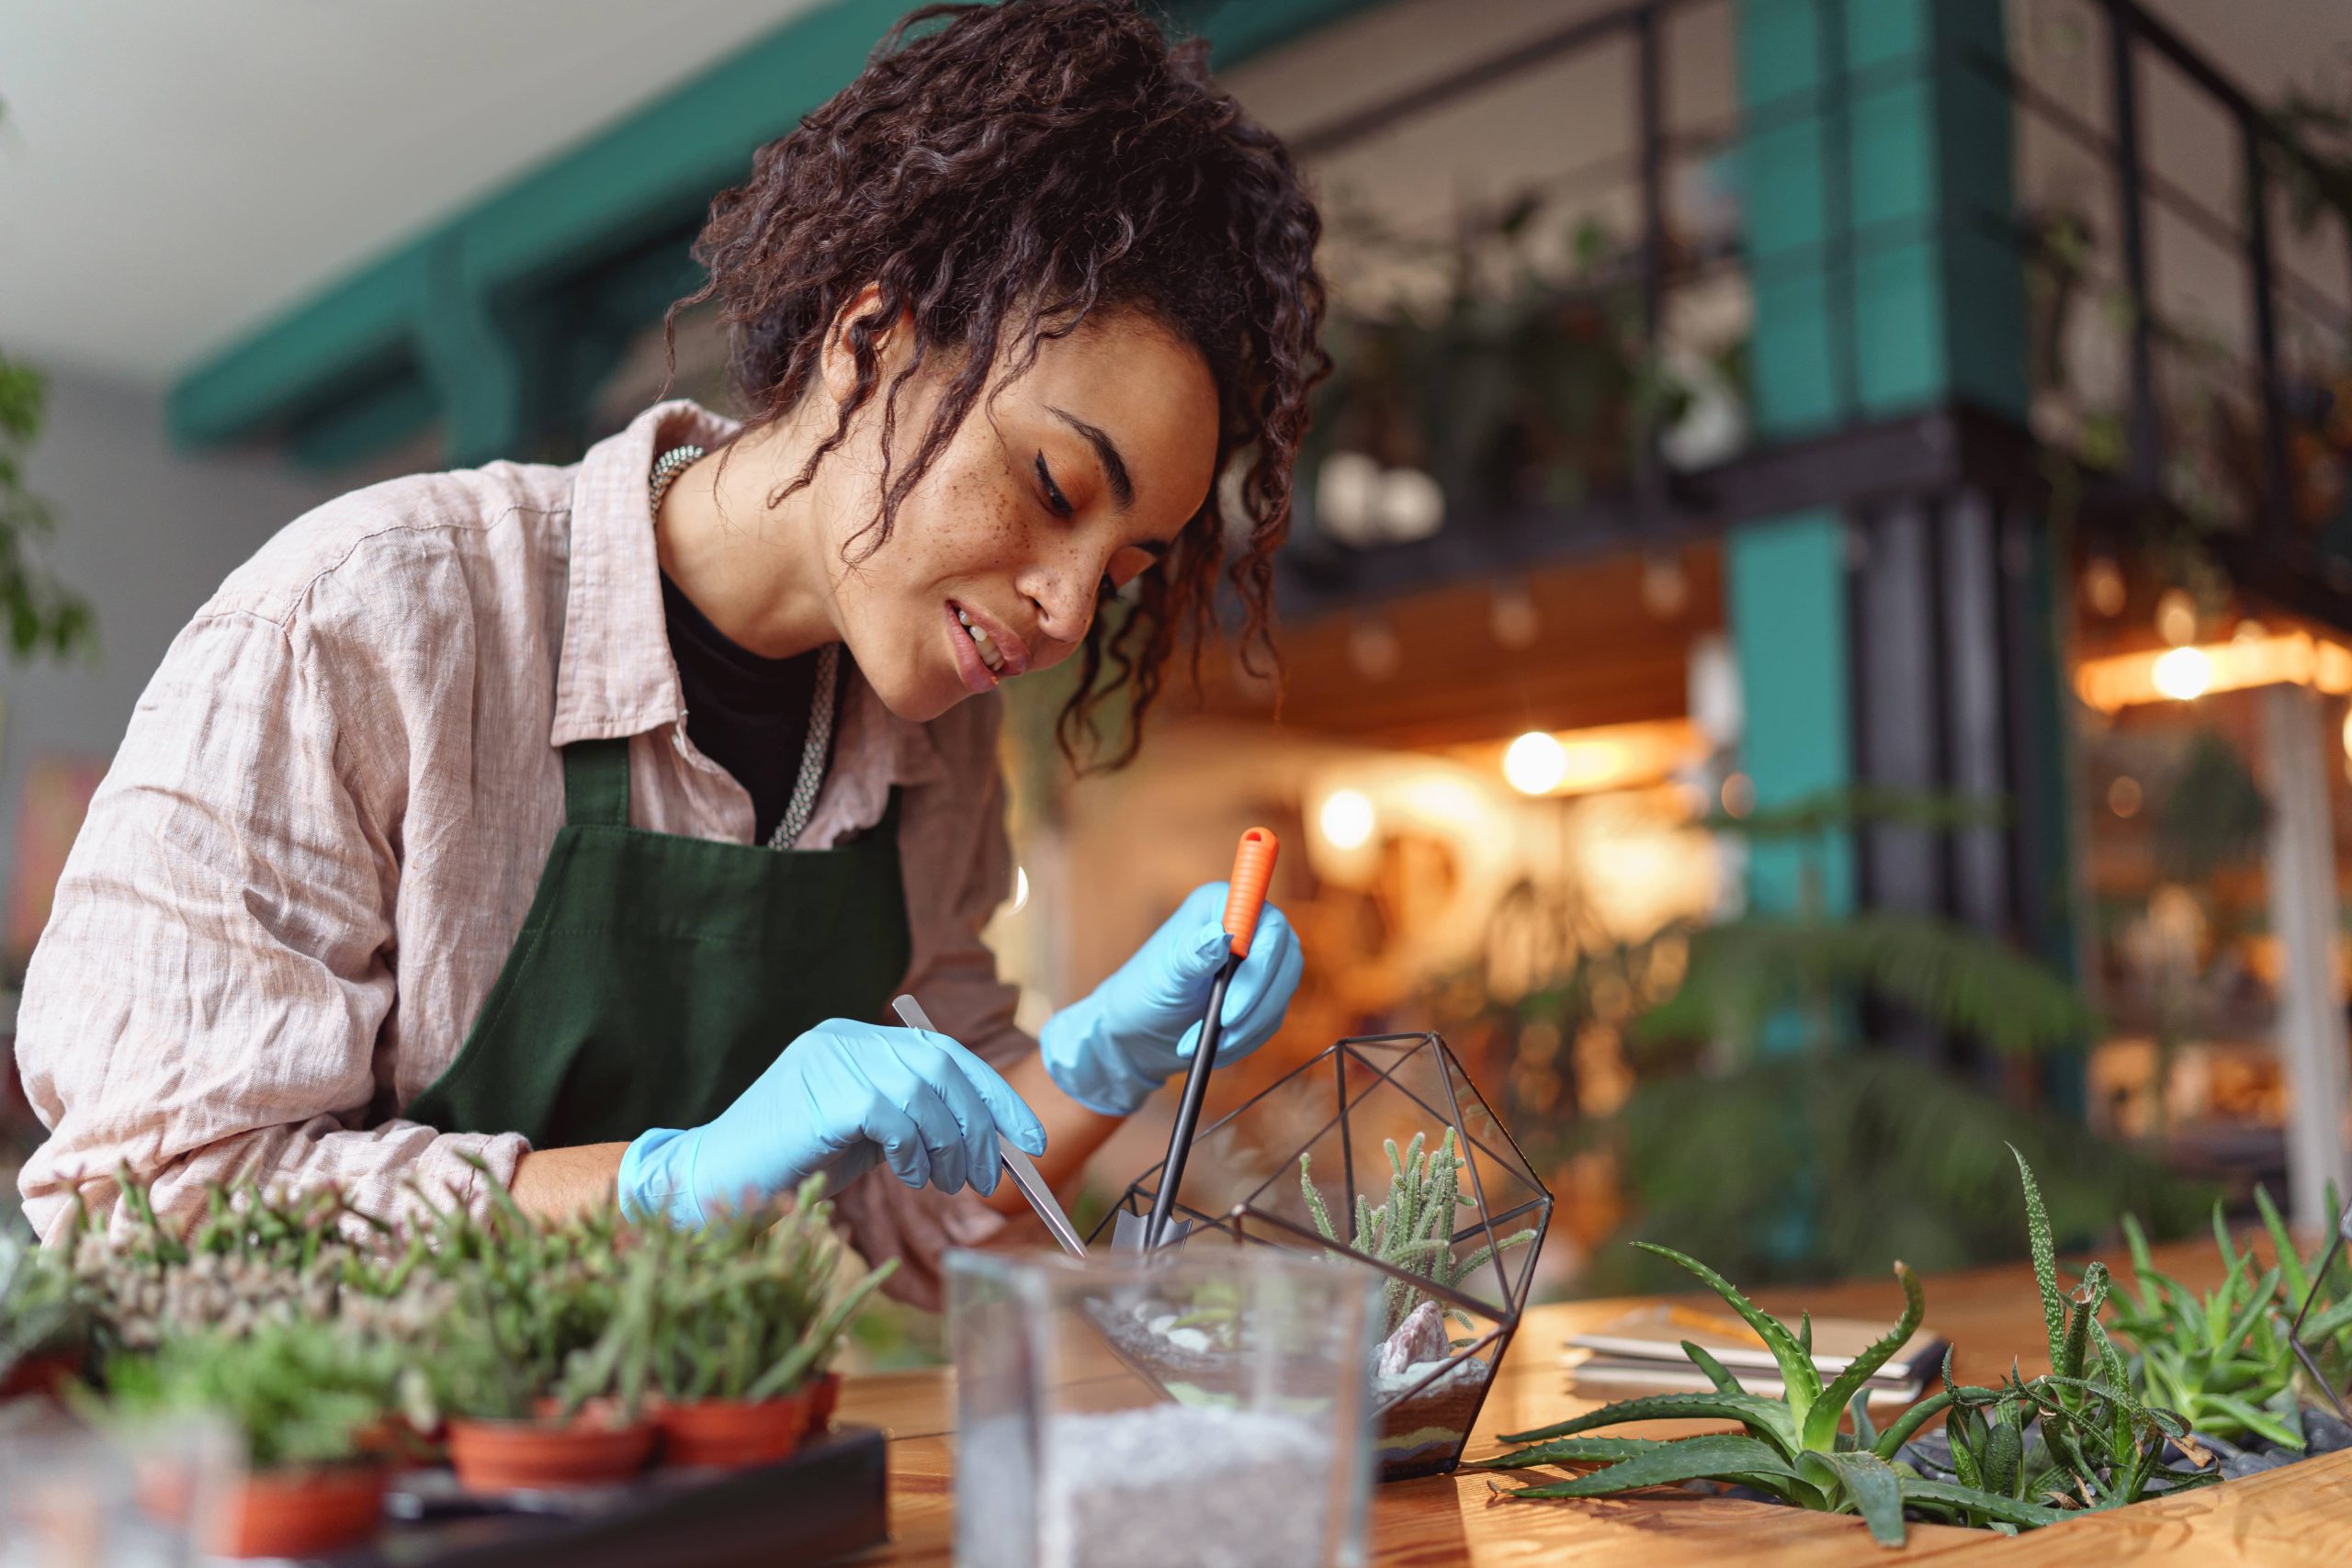
<svg viewBox="0 0 2352 1568"><path fill-rule="evenodd" d="M1089 1246L1134 1232L1160 1173L1127 1187ZM1195 1133L1162 1246L1277 1246L1376 1269L1374 1441L1381 1479L1399 1481L1461 1460L1550 1218L1550 1190L1446 1041L1371 1034Z"/></svg>

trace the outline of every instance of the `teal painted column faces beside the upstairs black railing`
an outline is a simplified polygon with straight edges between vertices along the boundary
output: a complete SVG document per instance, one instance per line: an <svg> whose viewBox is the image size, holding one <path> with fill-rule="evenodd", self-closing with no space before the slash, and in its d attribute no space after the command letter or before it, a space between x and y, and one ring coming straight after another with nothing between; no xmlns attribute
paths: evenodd
<svg viewBox="0 0 2352 1568"><path fill-rule="evenodd" d="M1990 0L1740 0L1738 167L1764 440L1950 402L2025 416L2002 26ZM1757 802L1851 783L1842 520L1736 529L1726 592ZM1759 851L1752 903L1788 910L1795 875L1790 851ZM1851 907L1849 844L1823 893Z"/></svg>

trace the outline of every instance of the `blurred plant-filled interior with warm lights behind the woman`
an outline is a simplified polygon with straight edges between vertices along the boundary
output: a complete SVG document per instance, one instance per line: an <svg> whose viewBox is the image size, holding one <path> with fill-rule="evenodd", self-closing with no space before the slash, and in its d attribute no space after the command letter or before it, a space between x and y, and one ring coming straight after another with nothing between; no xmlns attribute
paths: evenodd
<svg viewBox="0 0 2352 1568"><path fill-rule="evenodd" d="M623 425L710 193L898 9L0 5L5 973L214 583ZM1308 978L1218 1103L1439 1030L1559 1197L1545 1293L1646 1284L1632 1237L2009 1255L2004 1143L2077 1239L2256 1182L2324 1225L2352 9L1162 9L1322 193L1338 371L1279 689L1211 649L1089 778L1014 689L1025 1020L1263 820ZM677 393L720 360L682 320Z"/></svg>

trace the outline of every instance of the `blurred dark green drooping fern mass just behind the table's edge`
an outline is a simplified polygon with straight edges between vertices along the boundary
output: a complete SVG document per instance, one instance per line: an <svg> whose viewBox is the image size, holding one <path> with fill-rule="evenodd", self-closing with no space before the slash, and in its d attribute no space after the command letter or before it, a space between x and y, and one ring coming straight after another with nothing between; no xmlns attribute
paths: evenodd
<svg viewBox="0 0 2352 1568"><path fill-rule="evenodd" d="M1752 1281L1865 1274L1893 1255L1931 1274L2011 1258L2009 1143L2044 1173L2056 1232L2072 1244L2129 1208L2178 1237L2213 1197L2063 1117L1872 1051L1762 1056L1649 1081L1604 1133L1621 1150L1632 1211L1618 1239L1672 1241ZM1583 1288L1672 1281L1651 1255L1611 1246L1595 1253Z"/></svg>

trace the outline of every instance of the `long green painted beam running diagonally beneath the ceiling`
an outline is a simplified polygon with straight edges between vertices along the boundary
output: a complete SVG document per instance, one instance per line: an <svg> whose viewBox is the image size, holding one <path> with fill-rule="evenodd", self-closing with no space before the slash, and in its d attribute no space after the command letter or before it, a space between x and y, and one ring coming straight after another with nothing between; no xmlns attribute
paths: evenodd
<svg viewBox="0 0 2352 1568"><path fill-rule="evenodd" d="M1390 0L1176 0L1221 66ZM750 155L854 78L913 0L830 0L739 49L614 127L405 242L393 254L219 350L172 388L169 428L205 447L303 425L355 456L367 430L414 421L414 393L386 364L423 364L449 449L475 461L529 435L529 355L508 329L536 294L562 289L699 221ZM654 310L647 320L659 320ZM386 409L346 411L365 393ZM395 414L400 418L395 418Z"/></svg>

